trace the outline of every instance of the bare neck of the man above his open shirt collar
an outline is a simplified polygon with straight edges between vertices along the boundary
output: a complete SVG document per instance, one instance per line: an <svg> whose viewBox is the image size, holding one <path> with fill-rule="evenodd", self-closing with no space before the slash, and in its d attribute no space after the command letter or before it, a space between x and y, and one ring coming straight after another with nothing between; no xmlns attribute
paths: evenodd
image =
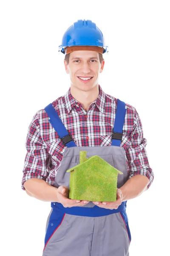
<svg viewBox="0 0 170 256"><path fill-rule="evenodd" d="M71 85L70 92L74 99L81 103L87 112L91 103L94 102L99 95L99 84L96 84L91 90L88 91L79 90L79 88Z"/></svg>

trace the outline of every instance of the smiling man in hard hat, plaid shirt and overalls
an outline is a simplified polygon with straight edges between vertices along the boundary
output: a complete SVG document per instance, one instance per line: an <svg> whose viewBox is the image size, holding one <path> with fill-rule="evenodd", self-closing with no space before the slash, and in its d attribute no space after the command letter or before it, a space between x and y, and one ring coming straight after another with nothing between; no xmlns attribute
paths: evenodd
<svg viewBox="0 0 170 256"><path fill-rule="evenodd" d="M142 124L135 108L105 94L99 85L107 47L95 23L75 22L59 50L65 54L71 87L34 115L22 180L28 195L51 202L43 256L127 256L131 235L126 202L153 182ZM68 198L66 171L79 164L82 150L123 172L115 202Z"/></svg>

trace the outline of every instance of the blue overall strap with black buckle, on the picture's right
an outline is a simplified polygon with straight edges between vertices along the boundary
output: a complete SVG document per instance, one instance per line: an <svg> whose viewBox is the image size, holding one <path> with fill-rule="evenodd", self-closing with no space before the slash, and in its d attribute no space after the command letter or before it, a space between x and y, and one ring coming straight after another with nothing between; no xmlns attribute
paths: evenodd
<svg viewBox="0 0 170 256"><path fill-rule="evenodd" d="M112 131L112 146L120 146L122 141L122 131L126 114L125 105L125 102L117 99L116 117Z"/></svg>

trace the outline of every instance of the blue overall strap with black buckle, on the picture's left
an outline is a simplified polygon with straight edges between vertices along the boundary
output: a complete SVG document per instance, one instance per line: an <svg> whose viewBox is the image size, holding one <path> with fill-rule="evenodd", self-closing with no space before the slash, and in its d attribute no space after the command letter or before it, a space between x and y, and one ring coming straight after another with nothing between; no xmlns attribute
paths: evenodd
<svg viewBox="0 0 170 256"><path fill-rule="evenodd" d="M71 135L68 133L66 130L64 124L62 123L61 119L59 118L57 112L55 111L53 105L50 103L48 106L45 108L46 113L49 116L49 122L51 125L54 127L55 131L57 131L58 136L62 140L62 143L67 146L68 148L70 147L76 147L76 144L74 143L73 138Z"/></svg>

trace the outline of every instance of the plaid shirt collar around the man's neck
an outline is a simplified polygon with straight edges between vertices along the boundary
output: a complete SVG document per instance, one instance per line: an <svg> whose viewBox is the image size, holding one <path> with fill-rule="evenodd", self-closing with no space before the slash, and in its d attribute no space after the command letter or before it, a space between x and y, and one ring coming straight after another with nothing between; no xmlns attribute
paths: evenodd
<svg viewBox="0 0 170 256"><path fill-rule="evenodd" d="M68 92L64 96L65 108L66 108L68 114L70 113L71 109L75 105L77 105L77 107L79 106L79 102L76 99L74 99L74 97L71 95L70 91L71 91L71 87L69 88ZM101 111L102 113L105 113L105 101L106 101L106 94L102 90L102 87L99 85L99 95L97 96L95 101L92 102L91 104L96 104L99 111Z"/></svg>

